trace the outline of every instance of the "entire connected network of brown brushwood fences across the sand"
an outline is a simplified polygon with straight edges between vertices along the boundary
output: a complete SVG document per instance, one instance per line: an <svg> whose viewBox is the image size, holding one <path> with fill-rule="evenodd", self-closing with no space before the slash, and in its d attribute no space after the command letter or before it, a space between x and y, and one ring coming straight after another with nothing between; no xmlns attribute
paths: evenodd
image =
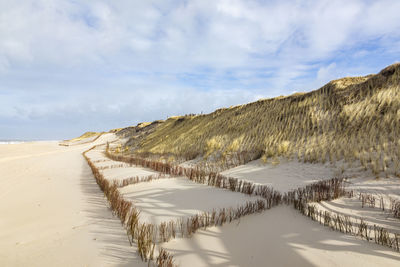
<svg viewBox="0 0 400 267"><path fill-rule="evenodd" d="M267 186L225 177L218 173L206 172L199 168L183 168L171 163L151 161L132 156L122 156L120 154L116 155L109 151L109 146L107 145L105 155L110 159L140 165L160 172L159 176L149 176L145 178L143 182L160 179L168 175L180 175L197 183L224 188L233 192L261 196L263 198L263 200L258 199L253 202L246 202L244 205L236 208L203 212L186 219L179 218L156 225L140 223L140 211L131 202L126 201L118 191L118 187L124 186L124 184L118 184L105 179L99 168L86 156L86 152L84 152L83 155L88 161L97 183L109 200L113 213L121 219L121 223L125 226L129 241L131 243L136 242L138 253L142 260L146 262L156 261L157 264L159 264L159 261L173 263L172 256L169 254L161 253L155 258L154 249L156 244L168 242L176 238L178 234L180 234L182 238L191 237L198 229L220 226L237 220L242 216L262 212L273 206L284 203L293 205L293 207L302 214L310 217L312 220L319 221L321 224L333 230L356 235L367 241L374 240L377 244L391 247L396 251L400 250L398 234L391 233L387 229L376 225L368 225L362 219L359 223L354 223L354 218L350 218L349 216L343 216L334 212L319 211L316 206L311 203L329 201L342 196L352 197L353 191L345 190L345 178L323 180L281 195ZM125 184L135 184L138 182L138 178L129 178Z"/></svg>

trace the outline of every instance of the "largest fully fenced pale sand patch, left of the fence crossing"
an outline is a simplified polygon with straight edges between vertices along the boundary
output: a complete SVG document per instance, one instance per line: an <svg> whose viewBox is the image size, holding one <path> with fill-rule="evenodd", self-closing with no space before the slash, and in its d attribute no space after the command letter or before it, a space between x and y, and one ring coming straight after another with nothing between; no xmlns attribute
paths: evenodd
<svg viewBox="0 0 400 267"><path fill-rule="evenodd" d="M120 189L140 210L140 220L153 224L187 218L203 211L236 208L262 199L194 183L187 178L166 178Z"/></svg>

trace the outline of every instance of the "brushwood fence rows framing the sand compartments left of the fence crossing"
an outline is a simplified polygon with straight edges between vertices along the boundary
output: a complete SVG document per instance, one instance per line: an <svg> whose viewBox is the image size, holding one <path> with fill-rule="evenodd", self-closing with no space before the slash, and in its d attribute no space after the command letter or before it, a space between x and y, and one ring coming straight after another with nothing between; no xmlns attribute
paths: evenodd
<svg viewBox="0 0 400 267"><path fill-rule="evenodd" d="M101 145L98 145L101 146ZM104 160L92 161L87 153L98 146L93 146L89 150L83 152L92 173L96 179L100 189L110 203L110 208L117 215L122 225L127 230L127 235L131 244L136 243L138 253L143 261L156 261L157 266L174 266L173 259L166 251L161 250L157 258L154 256L155 245L162 242L168 242L175 238L179 233L181 237L191 237L197 230L206 229L211 226L221 226L230 223L233 220L240 219L243 216L261 212L278 205L282 196L272 188L267 186L256 186L251 182L243 182L236 178L227 178L216 173L204 173L199 169L189 169L172 166L169 163L147 161L141 158L131 158L121 155L114 155L109 152L107 145L105 154L111 159L117 159L129 164L141 165L153 170L157 170L160 174L147 177L131 177L122 181L107 180L102 170L110 168L120 168L124 164L113 164L109 166L97 167L94 162L103 162ZM118 188L139 182L150 182L155 179L169 178L167 175L185 176L196 183L208 184L218 188L229 189L233 192L241 192L248 195L258 195L264 199L255 199L248 201L236 208L223 208L213 210L212 212L202 212L188 218L180 218L161 224L140 223L140 211L131 201L124 199Z"/></svg>

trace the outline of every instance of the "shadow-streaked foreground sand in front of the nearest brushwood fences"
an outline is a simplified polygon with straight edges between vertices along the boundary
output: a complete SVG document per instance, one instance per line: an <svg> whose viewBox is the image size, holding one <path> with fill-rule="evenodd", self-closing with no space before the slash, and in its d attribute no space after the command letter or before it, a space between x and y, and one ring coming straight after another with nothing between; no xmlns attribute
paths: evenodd
<svg viewBox="0 0 400 267"><path fill-rule="evenodd" d="M280 206L163 244L180 266L399 266L400 254Z"/></svg>

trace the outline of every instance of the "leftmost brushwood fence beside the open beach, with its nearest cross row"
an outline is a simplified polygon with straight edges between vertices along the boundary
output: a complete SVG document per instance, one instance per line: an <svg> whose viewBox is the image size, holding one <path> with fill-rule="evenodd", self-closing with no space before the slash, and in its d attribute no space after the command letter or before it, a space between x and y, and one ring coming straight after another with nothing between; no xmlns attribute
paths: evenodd
<svg viewBox="0 0 400 267"><path fill-rule="evenodd" d="M102 168L96 165L87 156L87 152L96 148L96 146L83 153L84 158L88 162L89 167L95 177L100 189L110 203L110 208L116 216L119 217L122 225L124 225L129 242L132 244L136 242L138 253L143 261L156 262L158 266L160 262L170 263L172 256L166 252L160 251L159 256L154 258L154 250L156 244L167 242L177 236L190 237L199 229L206 229L211 226L221 226L225 223L232 222L243 216L261 212L268 208L264 199L257 199L255 201L248 201L243 205L236 208L223 208L220 210L213 210L211 212L202 212L188 218L179 218L168 222L162 222L158 225L151 223L141 223L139 221L140 211L132 204L123 198L118 188L128 184L135 184L138 182L149 182L154 179L159 179L159 176L147 176L145 178L132 177L122 181L109 181L101 172ZM103 168L104 169L104 168Z"/></svg>

